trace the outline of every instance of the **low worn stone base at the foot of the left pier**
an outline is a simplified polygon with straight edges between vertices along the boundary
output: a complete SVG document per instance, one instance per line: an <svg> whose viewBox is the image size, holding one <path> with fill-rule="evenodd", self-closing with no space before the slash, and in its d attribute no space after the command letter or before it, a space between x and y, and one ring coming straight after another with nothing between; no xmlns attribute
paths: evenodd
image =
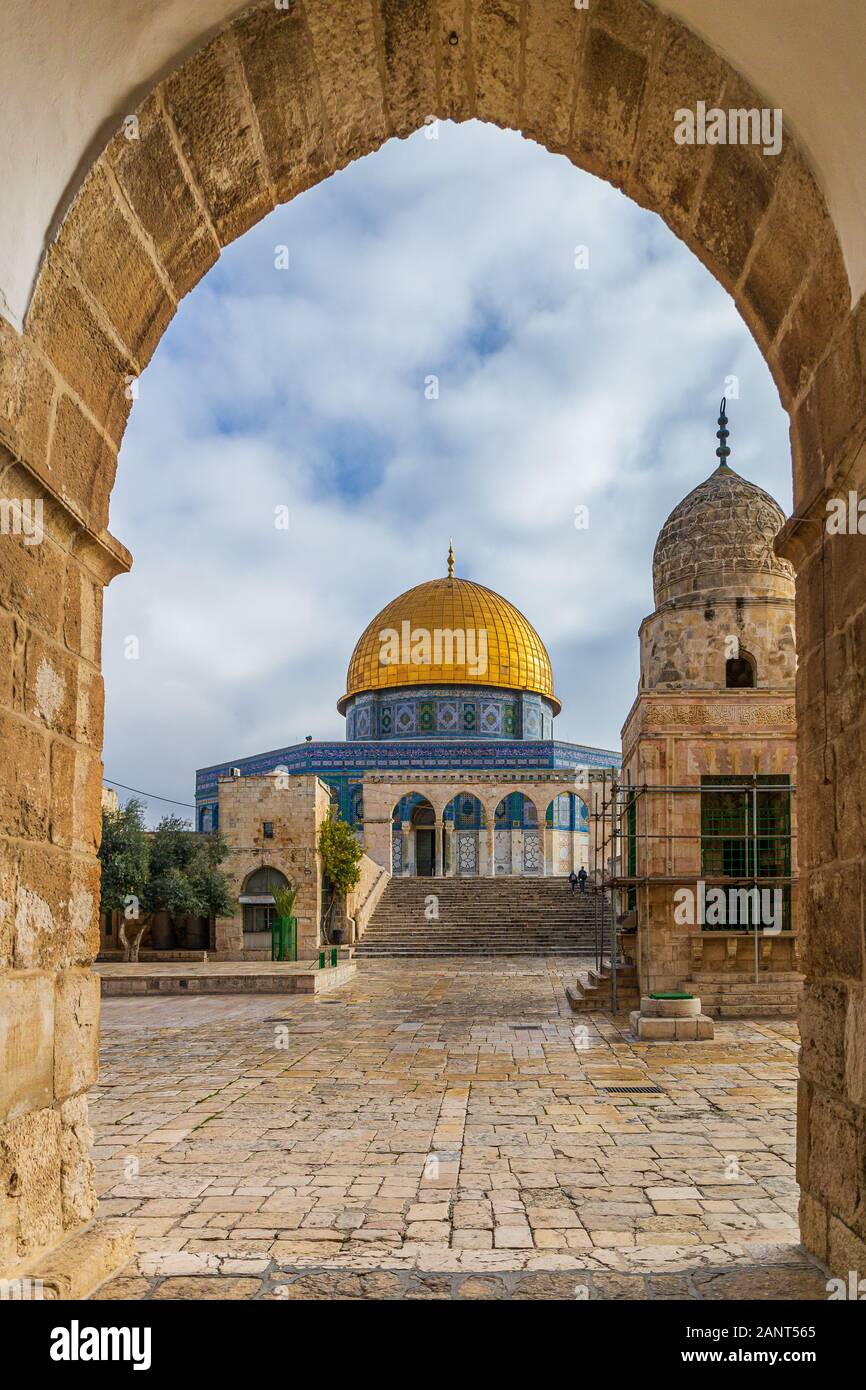
<svg viewBox="0 0 866 1390"><path fill-rule="evenodd" d="M25 1259L4 1279L21 1284L29 1280L29 1286L24 1286L24 1297L29 1298L88 1298L133 1255L132 1225L110 1218L97 1219L67 1236L53 1250Z"/></svg>

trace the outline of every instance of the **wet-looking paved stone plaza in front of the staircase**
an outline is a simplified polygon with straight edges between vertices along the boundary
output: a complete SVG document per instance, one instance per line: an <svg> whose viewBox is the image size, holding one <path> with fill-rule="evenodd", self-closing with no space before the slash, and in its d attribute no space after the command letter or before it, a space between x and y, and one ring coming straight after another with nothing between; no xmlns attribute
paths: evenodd
<svg viewBox="0 0 866 1390"><path fill-rule="evenodd" d="M363 962L325 997L103 1004L97 1297L820 1298L798 1038L638 1044L574 960Z"/></svg>

